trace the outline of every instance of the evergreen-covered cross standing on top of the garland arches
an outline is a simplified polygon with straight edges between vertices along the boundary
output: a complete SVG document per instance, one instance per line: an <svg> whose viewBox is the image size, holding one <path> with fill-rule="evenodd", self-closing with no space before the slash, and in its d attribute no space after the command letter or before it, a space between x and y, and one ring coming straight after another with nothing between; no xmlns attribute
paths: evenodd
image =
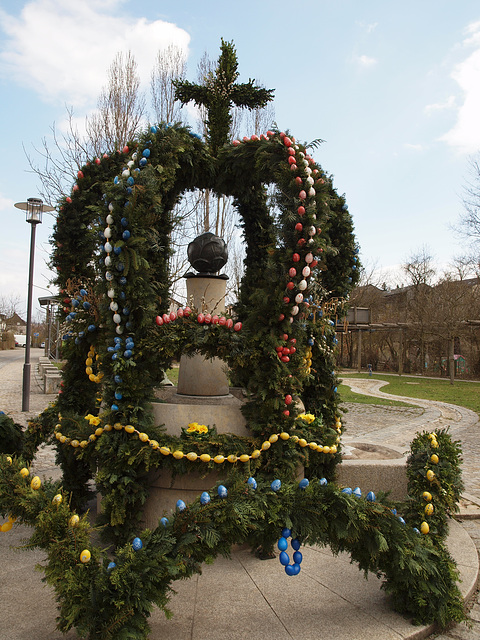
<svg viewBox="0 0 480 640"><path fill-rule="evenodd" d="M264 107L273 99L273 89L264 89L254 85L254 80L235 84L238 78L237 54L233 42L222 38L221 54L218 59L216 75L209 73L203 85L188 80L175 80L175 98L183 104L195 102L207 110L207 141L214 156L228 142L232 115L232 104L247 109Z"/></svg>

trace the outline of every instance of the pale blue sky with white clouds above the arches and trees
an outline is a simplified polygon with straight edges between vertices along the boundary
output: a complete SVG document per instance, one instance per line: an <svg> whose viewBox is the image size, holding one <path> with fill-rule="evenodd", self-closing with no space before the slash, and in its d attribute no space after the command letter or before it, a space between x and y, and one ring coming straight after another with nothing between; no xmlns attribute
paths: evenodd
<svg viewBox="0 0 480 640"><path fill-rule="evenodd" d="M30 226L13 205L38 197L27 155L41 164L52 125L67 108L92 113L117 52L134 54L148 90L159 49L180 46L195 81L222 37L239 82L275 90L278 127L324 140L313 156L345 194L368 268L396 274L423 247L441 268L465 252L453 227L480 150L478 1L0 0L0 301L25 312ZM37 226L35 300L56 293L53 224Z"/></svg>

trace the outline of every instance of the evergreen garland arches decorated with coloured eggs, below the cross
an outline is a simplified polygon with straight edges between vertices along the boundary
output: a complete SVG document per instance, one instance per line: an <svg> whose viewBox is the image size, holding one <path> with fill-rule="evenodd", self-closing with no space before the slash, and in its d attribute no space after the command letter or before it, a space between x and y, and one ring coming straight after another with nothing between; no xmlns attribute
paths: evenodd
<svg viewBox="0 0 480 640"><path fill-rule="evenodd" d="M242 218L246 269L234 319L168 313L172 211L194 188L233 196ZM188 129L152 127L79 171L52 242L67 363L62 393L37 429L57 442L63 491L39 488L36 478L30 484L21 461L4 457L0 489L7 528L16 517L36 523L32 544L48 552L62 631L146 638L152 603L168 612L173 580L234 543L271 550L281 532L294 533L296 545L346 550L365 572L383 572L396 606L418 621L461 619L457 574L443 544L405 526L387 500L362 499L331 481L341 432L334 318L357 281L358 259L344 198L303 145L268 132L213 158ZM195 427L174 438L154 424L153 389L171 360L192 350L228 362L248 393L251 438L197 437ZM300 413L295 397L309 413ZM447 448L440 434L439 444ZM157 528L141 532L148 470L188 473L199 465L227 466L226 486L177 504ZM74 513L94 469L114 543L107 552L92 543L87 518ZM437 493L440 505L440 485ZM289 575L298 572L283 564Z"/></svg>

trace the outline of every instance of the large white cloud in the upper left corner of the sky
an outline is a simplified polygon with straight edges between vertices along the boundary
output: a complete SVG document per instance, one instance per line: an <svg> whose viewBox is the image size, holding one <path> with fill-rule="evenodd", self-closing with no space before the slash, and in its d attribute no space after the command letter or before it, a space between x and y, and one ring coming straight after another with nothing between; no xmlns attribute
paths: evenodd
<svg viewBox="0 0 480 640"><path fill-rule="evenodd" d="M132 51L146 85L159 48L185 51L189 34L163 20L122 15L124 0L30 0L20 16L0 9L0 73L45 101L91 103L118 51ZM108 13L107 13L108 11Z"/></svg>

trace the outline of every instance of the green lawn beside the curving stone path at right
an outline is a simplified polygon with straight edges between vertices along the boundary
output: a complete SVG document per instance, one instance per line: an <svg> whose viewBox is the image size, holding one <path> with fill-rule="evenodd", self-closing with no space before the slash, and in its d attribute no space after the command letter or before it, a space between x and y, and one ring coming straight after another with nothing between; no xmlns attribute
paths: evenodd
<svg viewBox="0 0 480 640"><path fill-rule="evenodd" d="M382 391L392 393L407 398L421 398L424 400L439 400L450 404L458 404L467 409L471 409L480 415L480 382L470 380L456 380L451 385L448 380L438 378L422 378L420 376L398 376L374 373L345 373L342 379L347 378L371 378L374 380L385 380L387 385L382 387ZM347 400L343 394L345 385L341 385L339 392L345 402L361 402L360 399ZM351 392L350 392L351 393ZM360 398L354 394L356 398ZM375 403L377 404L377 403Z"/></svg>

